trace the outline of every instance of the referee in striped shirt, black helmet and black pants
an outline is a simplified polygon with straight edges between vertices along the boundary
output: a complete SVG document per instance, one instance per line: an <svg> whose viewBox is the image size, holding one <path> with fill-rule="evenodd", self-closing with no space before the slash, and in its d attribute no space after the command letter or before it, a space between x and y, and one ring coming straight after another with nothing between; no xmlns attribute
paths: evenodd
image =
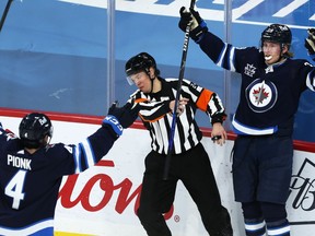
<svg viewBox="0 0 315 236"><path fill-rule="evenodd" d="M232 236L230 215L221 204L210 160L201 144L201 131L195 120L197 109L205 111L212 123L212 137L223 144L226 132L221 99L212 91L184 80L177 110L174 149L167 180L163 179L168 151L171 123L177 92L177 79L162 79L155 60L147 52L131 57L126 63L129 81L138 90L128 103L140 107L139 116L151 135L152 151L145 157L145 172L138 217L149 236L171 236L163 213L170 211L180 179L198 206L202 223L211 236Z"/></svg>

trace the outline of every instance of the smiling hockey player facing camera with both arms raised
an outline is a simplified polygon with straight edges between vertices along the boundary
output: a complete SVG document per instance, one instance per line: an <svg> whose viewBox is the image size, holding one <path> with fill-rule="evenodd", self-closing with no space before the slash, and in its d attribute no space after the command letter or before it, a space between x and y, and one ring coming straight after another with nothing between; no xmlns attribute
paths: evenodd
<svg viewBox="0 0 315 236"><path fill-rule="evenodd" d="M246 235L290 235L285 201L292 174L293 122L300 95L315 91L315 70L291 59L291 31L271 24L260 48L236 48L208 31L197 11L179 11L182 31L219 67L241 73L240 102L232 120L237 135L233 154L235 200L242 203ZM314 39L314 38L313 38ZM313 40L314 43L314 40ZM314 45L312 46L314 52Z"/></svg>

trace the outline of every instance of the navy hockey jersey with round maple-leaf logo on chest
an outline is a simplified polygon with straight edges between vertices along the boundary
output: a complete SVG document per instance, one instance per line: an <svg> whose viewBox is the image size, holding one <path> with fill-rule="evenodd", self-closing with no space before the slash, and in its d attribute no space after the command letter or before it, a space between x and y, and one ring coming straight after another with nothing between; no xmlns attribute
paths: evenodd
<svg viewBox="0 0 315 236"><path fill-rule="evenodd" d="M307 60L288 58L267 66L258 48L236 48L210 32L199 45L217 66L242 75L232 121L237 134L292 134L301 93L315 91L315 69Z"/></svg>

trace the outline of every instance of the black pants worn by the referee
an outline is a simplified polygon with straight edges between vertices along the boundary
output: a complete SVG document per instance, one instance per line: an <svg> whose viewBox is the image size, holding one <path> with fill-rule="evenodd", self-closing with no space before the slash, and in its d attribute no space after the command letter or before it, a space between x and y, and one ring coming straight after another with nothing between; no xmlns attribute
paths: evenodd
<svg viewBox="0 0 315 236"><path fill-rule="evenodd" d="M149 236L171 236L163 213L174 201L180 179L197 204L202 223L211 236L231 236L230 215L221 204L210 160L202 144L172 155L167 180L163 180L165 155L151 151L145 157L138 217Z"/></svg>

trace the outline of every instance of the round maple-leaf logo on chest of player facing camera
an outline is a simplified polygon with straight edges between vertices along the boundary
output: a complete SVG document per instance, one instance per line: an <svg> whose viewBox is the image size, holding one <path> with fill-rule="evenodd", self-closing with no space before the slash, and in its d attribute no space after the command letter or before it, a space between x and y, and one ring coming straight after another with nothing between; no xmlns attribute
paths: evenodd
<svg viewBox="0 0 315 236"><path fill-rule="evenodd" d="M255 113L265 113L272 108L277 102L277 87L270 81L256 79L246 88L248 106Z"/></svg>

